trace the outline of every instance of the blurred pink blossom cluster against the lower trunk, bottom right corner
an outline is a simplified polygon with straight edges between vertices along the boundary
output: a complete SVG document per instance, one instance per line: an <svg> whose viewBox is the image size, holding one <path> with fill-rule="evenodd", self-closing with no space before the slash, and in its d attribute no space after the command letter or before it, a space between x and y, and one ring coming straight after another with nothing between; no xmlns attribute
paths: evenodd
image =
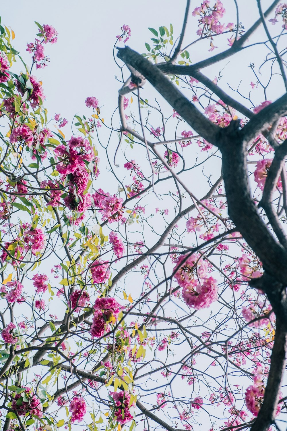
<svg viewBox="0 0 287 431"><path fill-rule="evenodd" d="M245 404L247 409L254 416L257 416L263 403L265 394L265 386L263 383L264 371L262 369L262 365L258 365L256 368L254 368L253 372L253 384L247 387L247 390L245 392ZM281 392L279 394L279 397L282 398ZM279 403L276 410L276 416L279 415L281 411L281 406L282 403Z"/></svg>

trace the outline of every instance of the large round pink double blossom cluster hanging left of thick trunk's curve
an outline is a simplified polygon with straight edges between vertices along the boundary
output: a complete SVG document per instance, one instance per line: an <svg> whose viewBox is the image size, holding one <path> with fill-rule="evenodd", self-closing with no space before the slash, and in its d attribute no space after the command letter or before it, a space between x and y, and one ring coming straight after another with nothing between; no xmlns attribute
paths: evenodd
<svg viewBox="0 0 287 431"><path fill-rule="evenodd" d="M207 269L207 262L196 253L181 255L176 259L175 278L183 288L183 300L197 310L209 307L218 299L217 282L209 277Z"/></svg>

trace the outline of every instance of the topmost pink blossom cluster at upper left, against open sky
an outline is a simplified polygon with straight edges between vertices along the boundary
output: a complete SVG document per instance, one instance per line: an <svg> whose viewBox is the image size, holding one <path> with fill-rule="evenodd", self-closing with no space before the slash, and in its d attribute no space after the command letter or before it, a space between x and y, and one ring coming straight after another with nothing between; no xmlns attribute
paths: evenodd
<svg viewBox="0 0 287 431"><path fill-rule="evenodd" d="M33 63L36 64L36 69L43 69L47 66L47 62L49 61L49 57L45 56L44 46L43 44L47 44L48 42L51 44L56 44L57 42L57 31L51 25L43 24L43 30L39 28L39 34L42 36L42 39L35 38L34 43L27 44L27 50L30 54L32 54Z"/></svg>

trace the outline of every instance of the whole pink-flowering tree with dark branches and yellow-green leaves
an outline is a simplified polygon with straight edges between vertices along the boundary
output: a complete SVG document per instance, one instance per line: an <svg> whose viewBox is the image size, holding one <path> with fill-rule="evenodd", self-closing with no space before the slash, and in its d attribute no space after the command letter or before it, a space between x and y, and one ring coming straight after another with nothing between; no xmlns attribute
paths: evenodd
<svg viewBox="0 0 287 431"><path fill-rule="evenodd" d="M188 0L142 55L123 25L117 109L86 98L71 133L32 74L56 30L28 67L0 25L3 431L286 424L287 4L257 5L245 31ZM247 89L201 72L257 46Z"/></svg>

